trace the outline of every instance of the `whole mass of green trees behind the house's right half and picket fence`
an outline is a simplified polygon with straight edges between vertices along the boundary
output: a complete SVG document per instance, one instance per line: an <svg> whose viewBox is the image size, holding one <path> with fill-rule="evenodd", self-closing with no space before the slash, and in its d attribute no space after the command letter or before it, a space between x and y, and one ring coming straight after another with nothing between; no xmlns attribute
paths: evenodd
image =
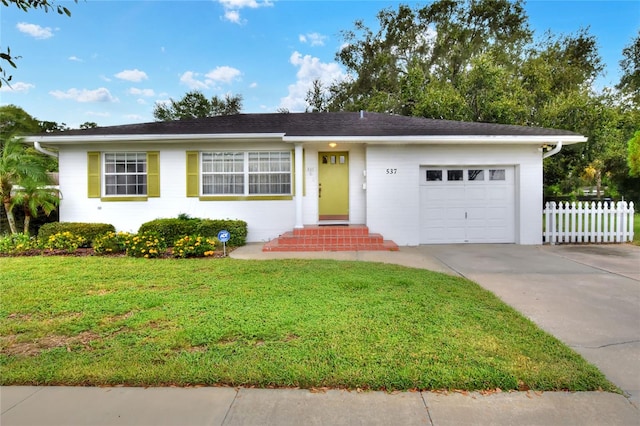
<svg viewBox="0 0 640 426"><path fill-rule="evenodd" d="M547 194L576 196L585 170L597 169L607 195L640 198L626 164L640 122L640 37L623 52L620 90L598 91L604 67L589 29L536 35L521 0L399 5L380 11L375 28L356 21L342 32L336 59L349 77L314 82L308 109L572 130L588 142L545 160Z"/></svg>

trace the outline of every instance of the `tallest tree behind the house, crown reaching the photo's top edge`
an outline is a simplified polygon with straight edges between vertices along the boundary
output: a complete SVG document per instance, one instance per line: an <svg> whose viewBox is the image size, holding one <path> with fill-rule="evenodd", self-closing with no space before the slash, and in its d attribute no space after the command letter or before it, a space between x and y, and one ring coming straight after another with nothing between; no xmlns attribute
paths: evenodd
<svg viewBox="0 0 640 426"><path fill-rule="evenodd" d="M531 38L519 0L438 0L383 10L377 18L376 32L357 21L342 33L346 47L336 56L351 78L332 86L329 109L416 115L421 93L460 91L478 58L491 55L498 66L515 69Z"/></svg>

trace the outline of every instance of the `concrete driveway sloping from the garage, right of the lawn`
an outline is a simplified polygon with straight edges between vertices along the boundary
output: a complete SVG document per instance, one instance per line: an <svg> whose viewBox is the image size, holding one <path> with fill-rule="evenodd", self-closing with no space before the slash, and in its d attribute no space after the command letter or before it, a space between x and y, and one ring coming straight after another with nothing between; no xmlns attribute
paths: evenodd
<svg viewBox="0 0 640 426"><path fill-rule="evenodd" d="M640 406L640 247L430 245L420 250L566 343Z"/></svg>

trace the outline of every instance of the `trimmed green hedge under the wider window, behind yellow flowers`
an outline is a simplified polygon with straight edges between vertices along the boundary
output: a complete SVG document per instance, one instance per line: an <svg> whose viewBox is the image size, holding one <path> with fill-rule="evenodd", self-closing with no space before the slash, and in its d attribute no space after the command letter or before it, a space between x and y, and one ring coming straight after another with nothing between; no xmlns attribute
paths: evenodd
<svg viewBox="0 0 640 426"><path fill-rule="evenodd" d="M168 245L173 246L176 241L187 235L217 237L218 232L223 229L226 229L231 234L231 239L227 245L239 247L247 243L247 222L242 220L199 218L155 219L140 225L138 233L156 233L162 237Z"/></svg>

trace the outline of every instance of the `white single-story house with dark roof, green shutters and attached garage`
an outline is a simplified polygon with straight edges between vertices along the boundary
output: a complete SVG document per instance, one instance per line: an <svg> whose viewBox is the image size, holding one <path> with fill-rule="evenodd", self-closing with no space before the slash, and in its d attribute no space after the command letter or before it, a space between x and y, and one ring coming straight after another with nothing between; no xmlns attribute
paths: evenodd
<svg viewBox="0 0 640 426"><path fill-rule="evenodd" d="M380 113L238 114L27 138L58 151L60 220L136 232L241 219L248 241L366 225L398 245L542 243L543 157L569 131Z"/></svg>

